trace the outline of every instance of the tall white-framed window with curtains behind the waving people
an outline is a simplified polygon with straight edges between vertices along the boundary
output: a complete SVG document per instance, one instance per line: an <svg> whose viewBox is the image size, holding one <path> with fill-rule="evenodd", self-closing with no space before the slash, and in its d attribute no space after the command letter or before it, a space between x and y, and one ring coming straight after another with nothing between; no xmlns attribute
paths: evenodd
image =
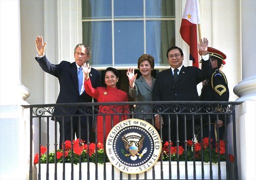
<svg viewBox="0 0 256 180"><path fill-rule="evenodd" d="M155 69L169 68L175 0L82 0L82 27L97 69L136 67L144 53L155 58Z"/></svg>

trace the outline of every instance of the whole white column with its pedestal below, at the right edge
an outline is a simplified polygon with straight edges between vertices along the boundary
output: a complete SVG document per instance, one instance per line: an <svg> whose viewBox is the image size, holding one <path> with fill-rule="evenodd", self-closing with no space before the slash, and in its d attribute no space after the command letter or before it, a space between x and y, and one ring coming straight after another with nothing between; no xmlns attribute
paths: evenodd
<svg viewBox="0 0 256 180"><path fill-rule="evenodd" d="M240 180L256 179L256 1L241 0L242 82L235 86L237 101L245 101L236 108L237 160ZM236 72L234 72L236 73Z"/></svg>

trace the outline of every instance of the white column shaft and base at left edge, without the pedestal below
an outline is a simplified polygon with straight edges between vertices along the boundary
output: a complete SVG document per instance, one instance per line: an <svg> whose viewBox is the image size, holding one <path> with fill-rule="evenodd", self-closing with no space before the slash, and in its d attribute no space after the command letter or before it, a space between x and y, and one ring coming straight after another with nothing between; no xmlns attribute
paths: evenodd
<svg viewBox="0 0 256 180"><path fill-rule="evenodd" d="M0 105L26 104L21 84L19 0L0 0Z"/></svg>

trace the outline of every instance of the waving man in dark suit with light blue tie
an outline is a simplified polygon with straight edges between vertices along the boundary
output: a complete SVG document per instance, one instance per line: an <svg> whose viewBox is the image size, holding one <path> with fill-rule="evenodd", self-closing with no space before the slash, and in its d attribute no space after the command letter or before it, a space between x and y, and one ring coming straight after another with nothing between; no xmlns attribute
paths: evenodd
<svg viewBox="0 0 256 180"><path fill-rule="evenodd" d="M56 103L92 102L92 97L89 96L84 89L84 77L82 68L80 68L84 63L87 63L91 56L90 47L85 44L78 44L74 49L75 62L70 63L67 61L62 61L60 64L54 65L51 64L45 56L44 51L46 42L43 42L42 36L36 37L35 44L38 52L35 59L39 63L42 70L59 79L60 92ZM92 68L90 78L94 88L100 86L101 78L100 73L97 70ZM79 124L78 116L73 116L73 128L71 130L71 116L74 114L83 114L77 108L73 108L74 109L65 109L67 110L65 115L68 113L70 116L66 116L64 119L60 116L64 113L61 108L55 108L53 112L53 115L59 122L60 148L63 140L72 141L72 137L75 139L75 135L77 138L81 137L82 140L87 141L87 130L91 130L90 126L92 124L92 119L89 117L88 123L87 116L85 115L81 116L81 124ZM90 107L85 107L83 108L83 111L92 112L92 109ZM52 120L54 120L54 118L52 118ZM89 128L87 127L87 124L89 124ZM79 126L81 127L81 134L79 132ZM71 134L71 132L73 133Z"/></svg>

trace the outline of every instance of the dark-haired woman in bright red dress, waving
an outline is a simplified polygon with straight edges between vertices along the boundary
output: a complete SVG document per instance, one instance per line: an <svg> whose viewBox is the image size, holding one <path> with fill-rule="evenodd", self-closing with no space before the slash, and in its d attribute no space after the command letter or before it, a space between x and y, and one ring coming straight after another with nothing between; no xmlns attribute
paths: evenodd
<svg viewBox="0 0 256 180"><path fill-rule="evenodd" d="M83 72L85 77L85 91L90 96L96 98L98 102L123 102L128 101L128 94L123 90L117 89L117 83L119 80L119 73L118 70L112 67L109 67L103 73L105 87L98 87L93 88L91 81L90 81L90 72L91 67L88 64L83 65ZM99 113L98 114L112 114L112 115L103 115L97 116L97 141L98 142L105 142L104 141L104 123L105 120L105 140L112 129L117 123L122 120L128 119L128 115L113 115L116 113L128 113L128 105L108 105L108 106L99 106ZM113 120L113 126L112 126Z"/></svg>

